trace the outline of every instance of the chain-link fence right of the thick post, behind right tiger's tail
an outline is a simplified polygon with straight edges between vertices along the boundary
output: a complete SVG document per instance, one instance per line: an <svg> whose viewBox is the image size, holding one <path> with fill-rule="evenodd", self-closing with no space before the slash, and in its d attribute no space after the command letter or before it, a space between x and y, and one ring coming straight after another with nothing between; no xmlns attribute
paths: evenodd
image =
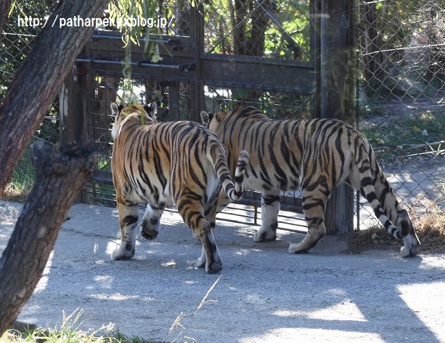
<svg viewBox="0 0 445 343"><path fill-rule="evenodd" d="M356 10L359 130L405 205L416 215L443 208L445 3L357 1Z"/></svg>

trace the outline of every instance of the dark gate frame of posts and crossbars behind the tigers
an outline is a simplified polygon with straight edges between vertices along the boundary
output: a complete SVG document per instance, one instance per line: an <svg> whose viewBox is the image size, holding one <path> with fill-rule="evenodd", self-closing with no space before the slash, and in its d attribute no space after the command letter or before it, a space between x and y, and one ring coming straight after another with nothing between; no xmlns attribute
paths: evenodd
<svg viewBox="0 0 445 343"><path fill-rule="evenodd" d="M354 0L310 0L309 3L312 35L312 58L309 62L204 53L204 8L200 2L198 6L191 7L191 37L154 37L154 42L163 42L174 51L172 56L161 54L163 60L159 64L147 62L142 47L133 47L131 54L135 62L132 62L132 72L170 82L172 113L179 112L179 108L175 107L179 106L178 82L175 87L175 79L184 76L193 81L194 108L191 112L196 122L200 122L199 112L204 103L203 84L217 82L261 85L262 89L270 87L271 90L274 85L280 84L298 94L312 95L314 117L337 118L353 124L355 57L351 51L355 47ZM107 71L122 72L120 61L123 59L120 34L104 31L92 33L60 92L60 104L63 105L60 107L61 142L90 140L88 130L93 110L89 103L95 100L92 91L94 80L90 77L92 65L106 65ZM289 78L289 74L293 77ZM175 120L177 117L169 119ZM85 193L82 201L87 199ZM296 206L295 212L301 213L296 202L286 206L286 210ZM243 203L259 205L258 200L249 202L245 199ZM332 194L325 216L328 234L353 231L353 192L349 187L341 185Z"/></svg>

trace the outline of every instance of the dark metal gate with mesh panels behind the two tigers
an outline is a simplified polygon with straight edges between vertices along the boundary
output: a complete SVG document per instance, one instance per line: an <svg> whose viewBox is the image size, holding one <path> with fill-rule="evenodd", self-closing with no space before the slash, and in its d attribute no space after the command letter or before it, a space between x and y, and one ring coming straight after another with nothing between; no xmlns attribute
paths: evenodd
<svg viewBox="0 0 445 343"><path fill-rule="evenodd" d="M313 0L221 1L204 7L164 1L156 15L170 26L156 28L150 40L162 60L152 63L142 47L134 47L133 91L143 103L158 103L160 120L200 122L201 110L215 112L241 103L282 119L319 116L319 6ZM123 59L120 34L95 31L77 59L75 81L65 83L72 101L63 118L65 139L92 139L100 149L84 201L114 202L110 103L122 98ZM253 206L256 221L260 194L246 192L243 203ZM282 194L281 207L302 212L295 193Z"/></svg>

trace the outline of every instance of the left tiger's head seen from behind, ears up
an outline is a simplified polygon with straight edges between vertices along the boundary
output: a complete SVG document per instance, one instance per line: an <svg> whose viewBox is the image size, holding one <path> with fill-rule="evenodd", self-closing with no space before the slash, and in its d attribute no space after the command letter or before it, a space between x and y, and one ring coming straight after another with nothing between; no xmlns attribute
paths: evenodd
<svg viewBox="0 0 445 343"><path fill-rule="evenodd" d="M139 115L144 118L143 120L156 122L157 113L158 109L156 107L156 101L153 101L148 105L129 103L125 107L122 105L122 103L119 105L117 103L111 103L111 114L115 117L113 127L111 128L111 137L113 137L113 140L115 139L116 135L118 135L122 122L125 118L129 117L129 115Z"/></svg>

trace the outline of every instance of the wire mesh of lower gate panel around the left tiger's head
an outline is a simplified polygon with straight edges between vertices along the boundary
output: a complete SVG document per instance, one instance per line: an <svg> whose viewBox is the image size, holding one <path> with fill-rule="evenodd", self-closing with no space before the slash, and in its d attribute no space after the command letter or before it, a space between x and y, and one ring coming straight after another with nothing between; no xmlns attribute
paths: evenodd
<svg viewBox="0 0 445 343"><path fill-rule="evenodd" d="M111 114L112 102L122 103L124 89L129 85L123 83L122 73L106 69L92 69L92 92L95 101L90 105L89 137L96 143L99 151L97 165L92 181L88 183L87 192L92 203L115 205L115 190L113 187L113 175L111 172L111 152L113 140L111 126L114 117ZM170 110L170 87L179 89L178 112ZM148 74L132 74L131 90L136 94L140 103L152 103L156 101L158 108L157 119L159 121L190 120L191 104L193 103L193 87L190 81L185 79L174 81L159 81ZM177 108L177 106L175 106Z"/></svg>

